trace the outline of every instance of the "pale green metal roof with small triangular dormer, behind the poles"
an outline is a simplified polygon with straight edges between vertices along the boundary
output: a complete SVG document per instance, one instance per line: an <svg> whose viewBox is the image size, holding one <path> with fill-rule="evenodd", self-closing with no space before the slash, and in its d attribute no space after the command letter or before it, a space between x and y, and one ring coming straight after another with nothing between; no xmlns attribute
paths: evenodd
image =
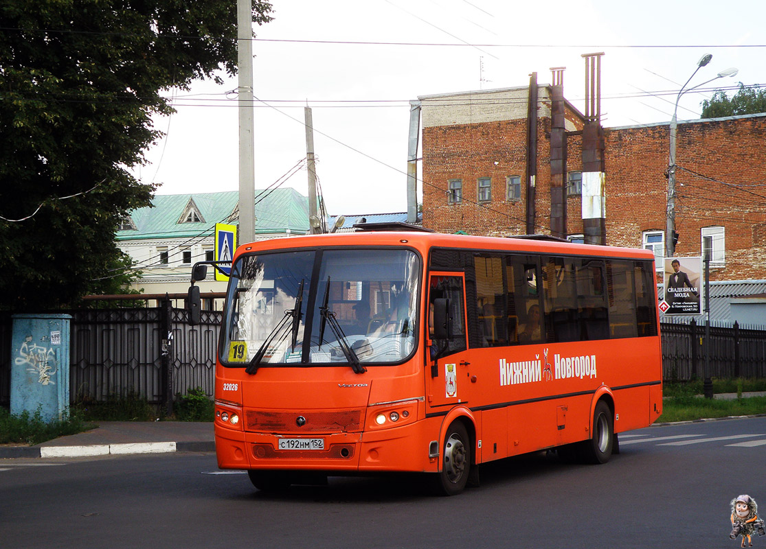
<svg viewBox="0 0 766 549"><path fill-rule="evenodd" d="M189 201L194 201L204 221L178 223ZM200 194L158 194L152 206L130 212L137 230L118 230L116 240L150 240L173 237L197 237L213 234L216 223L237 224L231 214L237 208L239 192ZM255 191L255 233L304 234L309 230L309 199L293 188Z"/></svg>

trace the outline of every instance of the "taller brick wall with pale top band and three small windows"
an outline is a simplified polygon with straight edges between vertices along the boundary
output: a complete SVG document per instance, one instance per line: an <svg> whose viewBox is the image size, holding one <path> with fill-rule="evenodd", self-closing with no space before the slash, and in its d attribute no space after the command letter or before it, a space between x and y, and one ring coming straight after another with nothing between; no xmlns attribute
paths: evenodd
<svg viewBox="0 0 766 549"><path fill-rule="evenodd" d="M526 88L517 88L420 98L424 227L443 233L462 230L489 236L525 233L528 93ZM538 94L535 232L547 234L551 208L551 103L547 87L539 87ZM482 105L488 109L485 115L478 111ZM582 129L581 115L569 103L565 118L567 129ZM575 162L580 165L579 152ZM521 178L521 200L506 200L509 175ZM478 180L487 177L492 180L492 198L483 202L479 200ZM447 200L450 179L463 182L460 204ZM579 202L577 208L575 221L581 227Z"/></svg>

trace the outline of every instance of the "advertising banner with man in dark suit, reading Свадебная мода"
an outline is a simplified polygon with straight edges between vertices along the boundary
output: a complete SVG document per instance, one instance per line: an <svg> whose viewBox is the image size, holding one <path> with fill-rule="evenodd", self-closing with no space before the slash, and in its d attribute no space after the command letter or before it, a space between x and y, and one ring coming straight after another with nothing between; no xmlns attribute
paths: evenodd
<svg viewBox="0 0 766 549"><path fill-rule="evenodd" d="M702 257L666 257L664 274L660 311L666 315L701 315Z"/></svg>

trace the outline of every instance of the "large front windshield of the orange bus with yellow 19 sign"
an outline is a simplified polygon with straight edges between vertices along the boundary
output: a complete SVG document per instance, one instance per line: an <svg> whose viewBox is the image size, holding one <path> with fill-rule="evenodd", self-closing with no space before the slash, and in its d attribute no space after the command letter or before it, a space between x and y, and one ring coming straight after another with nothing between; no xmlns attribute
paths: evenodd
<svg viewBox="0 0 766 549"><path fill-rule="evenodd" d="M415 348L421 271L404 248L244 254L231 270L221 363L399 363Z"/></svg>

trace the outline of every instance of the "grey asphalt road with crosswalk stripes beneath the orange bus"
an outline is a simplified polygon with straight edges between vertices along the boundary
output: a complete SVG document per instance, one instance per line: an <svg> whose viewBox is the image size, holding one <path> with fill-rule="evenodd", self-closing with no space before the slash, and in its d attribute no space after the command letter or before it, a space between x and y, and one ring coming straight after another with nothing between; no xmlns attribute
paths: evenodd
<svg viewBox="0 0 766 549"><path fill-rule="evenodd" d="M0 547L738 547L729 501L766 510L766 417L655 426L620 446L604 466L489 464L453 498L410 476L269 495L211 453L6 459Z"/></svg>

